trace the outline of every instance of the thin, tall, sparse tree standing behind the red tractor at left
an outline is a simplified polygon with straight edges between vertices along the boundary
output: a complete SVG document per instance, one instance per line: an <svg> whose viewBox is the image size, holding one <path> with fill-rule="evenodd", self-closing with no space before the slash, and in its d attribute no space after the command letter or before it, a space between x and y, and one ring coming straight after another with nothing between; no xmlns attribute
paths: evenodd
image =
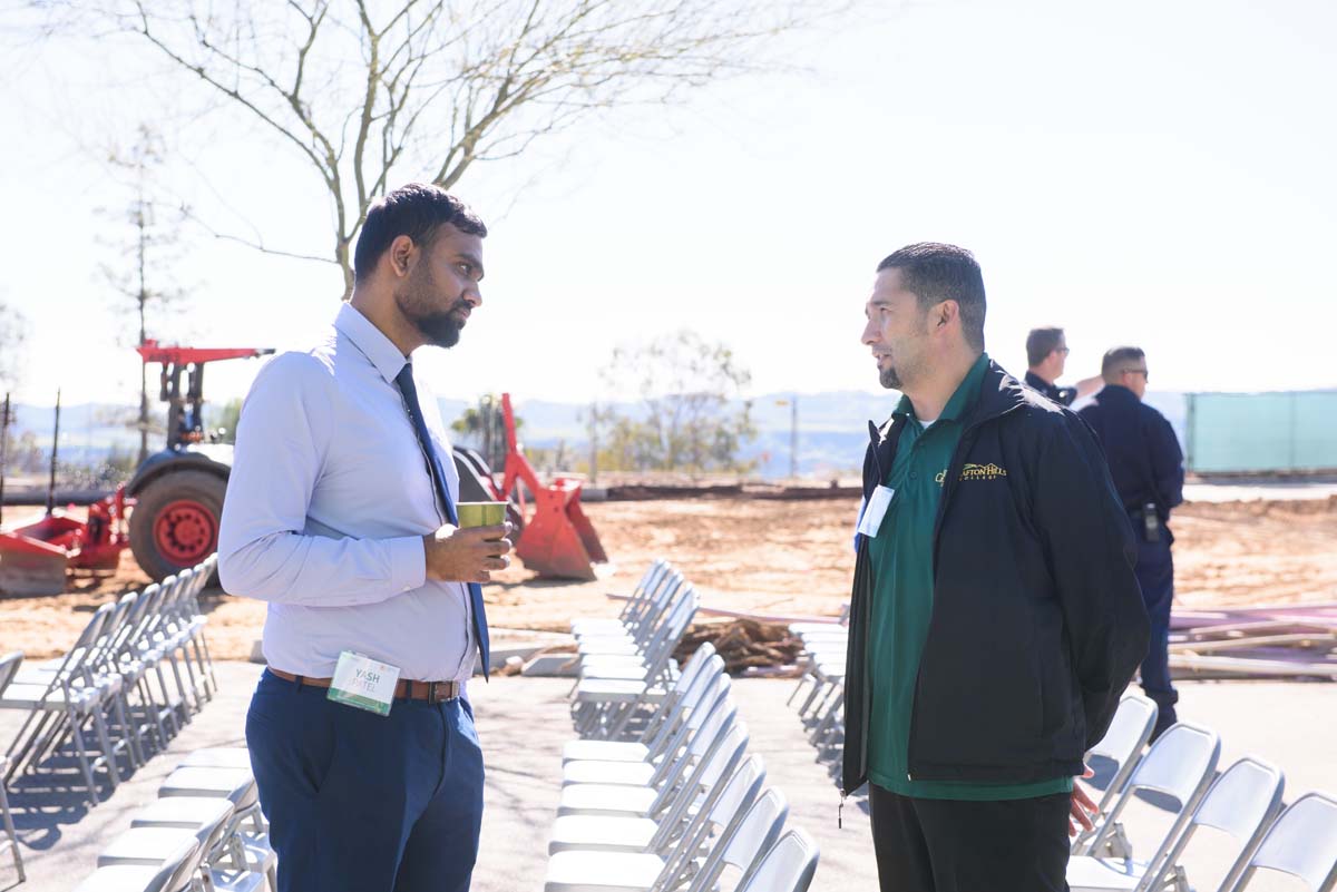
<svg viewBox="0 0 1337 892"><path fill-rule="evenodd" d="M185 292L172 283L171 267L180 254L180 232L189 210L166 199L156 186L166 162L162 136L148 124L140 124L135 143L114 148L107 159L114 175L130 198L115 211L103 211L115 222L128 226L127 238L112 239L108 247L114 260L102 267L103 276L119 291L139 324L136 345L148 337L148 312L179 308ZM139 415L132 422L139 430L139 461L148 458L148 369L139 363Z"/></svg>

